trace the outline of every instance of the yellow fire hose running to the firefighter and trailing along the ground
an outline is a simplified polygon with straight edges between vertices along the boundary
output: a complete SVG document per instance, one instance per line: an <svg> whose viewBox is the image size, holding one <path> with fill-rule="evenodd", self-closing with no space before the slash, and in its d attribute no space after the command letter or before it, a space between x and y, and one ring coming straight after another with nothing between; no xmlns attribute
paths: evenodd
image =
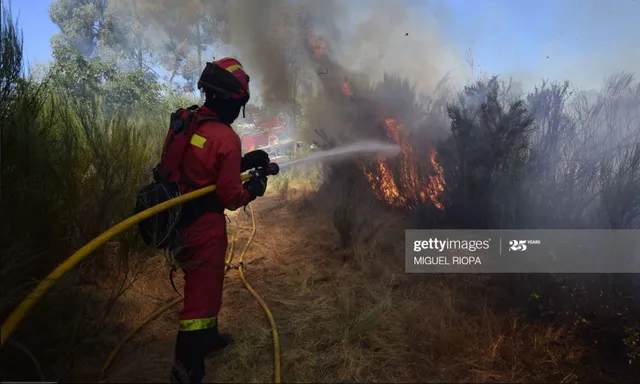
<svg viewBox="0 0 640 384"><path fill-rule="evenodd" d="M242 181L246 181L249 178L250 178L250 175L248 175L248 174L242 175ZM216 189L216 186L215 185L211 185L211 186L208 186L208 187L205 187L205 188L201 188L201 189L198 189L196 191L193 191L193 192L178 196L178 197L173 198L171 200L165 201L164 203L158 204L158 205L156 205L154 207L151 207L151 208L149 208L147 210L144 210L144 211L142 211L142 212L140 212L140 213L138 213L138 214L136 214L134 216L129 217L128 219L116 224L115 226L111 227L107 231L103 232L100 236L96 237L95 239L93 239L90 242L88 242L87 244L85 244L82 248L80 248L73 255L71 255L71 257L69 257L62 264L60 264L56 269L54 269L44 280L42 280L35 287L35 289L16 307L16 309L13 310L13 312L4 321L4 323L2 323L2 327L0 328L0 340L1 340L0 347L5 345L5 343L9 339L9 336L11 336L13 331L15 331L15 329L18 327L20 322L27 316L29 311L38 302L38 300L40 300L42 298L42 296L44 296L44 294L49 291L49 289L51 289L53 284L60 277L62 277L65 273L69 272L76 265L78 265L78 263L80 261L82 261L84 258L89 256L98 247L100 247L101 245L104 245L107 241L112 239L114 236L119 235L120 233L124 232L125 230L131 228L132 226L138 224L139 222L141 222L141 221L143 221L145 219L148 219L148 218L156 215L159 212L162 212L164 210L167 210L167 209L172 208L174 206L177 206L179 204L183 204L183 203L185 203L185 202L187 202L189 200L198 198L200 196L206 195L207 193L211 193L211 192L215 191L215 189ZM250 207L250 208L251 208L251 213L252 213L253 230L252 230L252 233L251 233L251 237L249 238L249 241L247 242L247 245L245 246L245 249L243 250L243 253L242 253L242 256L241 256L241 262L243 261L242 259L244 258L244 254L246 253L246 250L248 249L248 246L249 246L250 242L253 240L253 235L255 234L255 230L256 230L255 216L253 215L253 207ZM249 283L244 278L244 273L242 272L242 264L240 264L239 272L240 272L240 277L241 277L242 282L244 283L245 287L249 290L249 292L251 292L252 295L254 295L256 297L256 299L258 300L258 302L260 303L262 308L265 310L265 313L267 314L267 317L269 318L269 322L270 322L271 327L272 327L272 333L273 333L273 336L274 336L274 352L275 352L275 356L274 356L275 373L274 373L274 376L275 376L275 382L279 383L280 382L280 354L279 354L280 346L279 346L279 341L277 339L278 332L277 332L277 329L276 329L275 321L273 320L273 316L271 314L271 311L269 311L269 308L264 303L262 298L260 298L260 296L253 290L253 288L249 285ZM142 325L140 325L138 327L138 329L142 328L144 325L148 324L153 319L155 319L160 314L162 314L164 311L166 311L168 308L170 308L171 306L179 303L180 301L182 301L182 298L178 298L178 299L174 300L172 303L168 304L164 308L162 308L159 311L155 312ZM135 330L132 331L132 333L135 333ZM126 341L129 337L130 337L130 335L128 335L127 338L125 338L124 341ZM124 344L124 342L121 343L121 344ZM121 346L119 346L119 347L121 347ZM119 349L119 347L116 348L116 350L114 351L115 353L117 353L117 350ZM115 357L115 353L112 353L113 356L110 356L110 359L108 360L108 363L110 363L110 361L113 360L113 357ZM105 367L108 367L108 364L105 364ZM104 368L103 368L103 370L104 370Z"/></svg>

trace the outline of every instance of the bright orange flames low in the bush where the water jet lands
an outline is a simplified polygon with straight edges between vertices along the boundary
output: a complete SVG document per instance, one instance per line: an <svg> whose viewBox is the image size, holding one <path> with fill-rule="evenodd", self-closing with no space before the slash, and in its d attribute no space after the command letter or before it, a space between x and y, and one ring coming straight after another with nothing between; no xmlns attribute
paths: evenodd
<svg viewBox="0 0 640 384"><path fill-rule="evenodd" d="M440 201L444 191L444 175L436 160L436 151L431 150L430 163L426 164L424 159L414 153L401 123L387 118L384 126L387 136L400 145L402 153L397 178L390 171L389 162L383 158L378 158L374 172L363 167L365 177L372 184L376 195L396 207L414 209L420 204L431 202L436 208L444 209ZM433 169L435 175L429 168Z"/></svg>

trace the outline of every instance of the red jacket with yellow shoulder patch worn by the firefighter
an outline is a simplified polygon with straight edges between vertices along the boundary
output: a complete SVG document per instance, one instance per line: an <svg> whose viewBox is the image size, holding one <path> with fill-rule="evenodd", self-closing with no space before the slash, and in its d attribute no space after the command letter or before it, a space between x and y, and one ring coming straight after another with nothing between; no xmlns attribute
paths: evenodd
<svg viewBox="0 0 640 384"><path fill-rule="evenodd" d="M200 113L215 115L205 106ZM191 139L183 162L183 174L197 185L216 184L218 203L228 210L236 210L250 202L250 196L242 186L240 163L242 144L240 137L228 125L218 121L205 121ZM187 192L193 191L186 184L180 185Z"/></svg>

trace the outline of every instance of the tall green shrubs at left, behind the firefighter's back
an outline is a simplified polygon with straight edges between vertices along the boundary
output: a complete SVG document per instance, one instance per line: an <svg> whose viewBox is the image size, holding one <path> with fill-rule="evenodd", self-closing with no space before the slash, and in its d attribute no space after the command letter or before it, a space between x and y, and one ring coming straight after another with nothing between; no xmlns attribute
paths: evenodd
<svg viewBox="0 0 640 384"><path fill-rule="evenodd" d="M109 100L100 95L78 100L51 78L21 77L22 44L4 7L0 39L0 316L5 319L60 262L131 216L167 127L156 116L185 100L110 111ZM24 319L11 336L12 346L0 351L3 380L41 380L28 374L35 372L34 362L24 351L47 377L71 372L74 348L96 340L131 277L136 233L130 230L116 241L117 247L98 250L63 278ZM107 265L114 258L125 277L113 282L111 296L99 298L86 283L95 284L96 272L114 269ZM89 318L87 312L100 315Z"/></svg>

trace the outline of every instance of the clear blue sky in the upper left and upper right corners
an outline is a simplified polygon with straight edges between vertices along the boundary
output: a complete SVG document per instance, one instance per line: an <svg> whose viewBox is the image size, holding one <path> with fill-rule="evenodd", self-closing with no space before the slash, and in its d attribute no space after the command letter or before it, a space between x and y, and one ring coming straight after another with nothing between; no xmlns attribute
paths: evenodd
<svg viewBox="0 0 640 384"><path fill-rule="evenodd" d="M322 0L317 0L322 1ZM427 0L443 9L440 28L476 68L597 86L614 71L640 68L640 0ZM31 64L50 59L58 30L51 0L10 0ZM420 3L420 1L411 1Z"/></svg>

